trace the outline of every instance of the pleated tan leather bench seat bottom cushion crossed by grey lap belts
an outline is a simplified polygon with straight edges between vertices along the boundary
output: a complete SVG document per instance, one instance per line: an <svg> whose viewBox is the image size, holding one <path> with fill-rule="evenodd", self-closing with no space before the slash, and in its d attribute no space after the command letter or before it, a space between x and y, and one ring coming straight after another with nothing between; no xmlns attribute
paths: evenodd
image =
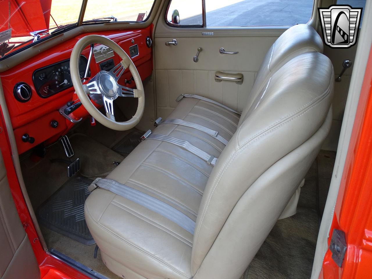
<svg viewBox="0 0 372 279"><path fill-rule="evenodd" d="M239 115L202 100L185 98L169 119L198 123L230 140ZM225 145L186 126L161 124L154 134L189 141L219 157ZM165 202L196 221L212 166L168 142L147 139L107 177ZM169 219L107 190L94 190L85 203L90 231L104 254L147 278L191 278L193 235ZM105 256L104 256L105 257ZM108 258L108 257L107 257ZM144 270L143 266L147 266ZM147 273L148 272L148 273ZM131 272L127 272L132 274ZM130 278L130 277L129 277Z"/></svg>

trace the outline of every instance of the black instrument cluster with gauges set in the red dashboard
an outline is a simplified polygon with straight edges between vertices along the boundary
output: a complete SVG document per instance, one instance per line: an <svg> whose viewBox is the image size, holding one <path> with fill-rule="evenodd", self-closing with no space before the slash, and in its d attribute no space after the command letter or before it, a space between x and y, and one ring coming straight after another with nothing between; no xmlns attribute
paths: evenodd
<svg viewBox="0 0 372 279"><path fill-rule="evenodd" d="M83 78L87 68L87 58L81 55L79 60L79 74ZM88 72L90 76L90 72ZM50 97L73 86L70 74L70 59L57 62L33 73L33 84L36 92L42 98Z"/></svg>

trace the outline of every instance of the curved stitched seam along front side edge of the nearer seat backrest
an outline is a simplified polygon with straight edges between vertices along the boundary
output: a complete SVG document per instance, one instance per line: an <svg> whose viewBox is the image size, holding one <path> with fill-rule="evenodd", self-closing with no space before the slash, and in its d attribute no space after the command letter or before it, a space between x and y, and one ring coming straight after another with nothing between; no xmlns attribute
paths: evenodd
<svg viewBox="0 0 372 279"><path fill-rule="evenodd" d="M292 120L298 118L299 116L302 116L304 115L305 113L307 113L309 110L315 108L315 106L319 105L321 102L323 102L325 100L325 98L323 100L321 100L320 102L318 102L317 104L311 106L310 108L308 108L307 110L305 110L304 112L302 112L300 115L296 116L295 118L292 118L286 122L284 122L283 124L279 125L278 127L266 132L265 134L261 135L260 137L256 138L254 141L251 141L251 142L246 142L245 143L245 146L243 148L239 148L237 151L235 151L232 155L230 155L230 157L227 159L227 161L225 162L224 166L222 166L222 172L219 173L219 175L216 177L216 179L214 180L213 182L213 186L212 186L212 192L208 195L207 197L207 201L208 203L204 206L204 208L202 209L202 217L201 217L201 221L198 222L199 224L202 224L203 220L204 220L204 217L205 217L205 212L206 210L208 209L208 206L209 206L209 203L212 199L212 195L214 193L214 190L217 188L217 184L219 183L219 181L221 180L221 177L223 176L223 174L225 173L225 171L227 170L227 168L230 166L232 160L238 155L240 154L241 152L243 152L249 145L251 145L253 142L259 140L260 138L264 137L265 135L269 134L270 132L272 131L275 131L276 129L280 128L280 126L283 126L289 122L291 122ZM201 226L198 225L198 227L196 228L196 234L195 234L195 241L194 243L196 243L197 239L198 239L198 235L199 235L199 231L200 231L200 228ZM191 255L191 266L192 266L192 263L193 263L193 257L194 257L194 252L195 252L195 249L193 249L192 251L192 255Z"/></svg>

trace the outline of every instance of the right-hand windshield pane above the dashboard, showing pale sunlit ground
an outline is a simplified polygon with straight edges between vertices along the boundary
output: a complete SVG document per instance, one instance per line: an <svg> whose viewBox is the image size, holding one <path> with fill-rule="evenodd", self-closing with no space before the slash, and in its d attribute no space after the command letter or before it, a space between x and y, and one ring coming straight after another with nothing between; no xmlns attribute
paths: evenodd
<svg viewBox="0 0 372 279"><path fill-rule="evenodd" d="M153 4L154 0L88 0L84 21L111 17L117 21L143 21L150 14Z"/></svg>

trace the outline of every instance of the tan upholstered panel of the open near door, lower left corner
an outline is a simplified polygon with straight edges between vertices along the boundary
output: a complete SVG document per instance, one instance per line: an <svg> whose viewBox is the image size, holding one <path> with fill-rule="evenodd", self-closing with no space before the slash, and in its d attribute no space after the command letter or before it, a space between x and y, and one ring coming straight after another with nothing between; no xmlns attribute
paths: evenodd
<svg viewBox="0 0 372 279"><path fill-rule="evenodd" d="M0 278L40 278L40 270L10 193L0 153Z"/></svg>

